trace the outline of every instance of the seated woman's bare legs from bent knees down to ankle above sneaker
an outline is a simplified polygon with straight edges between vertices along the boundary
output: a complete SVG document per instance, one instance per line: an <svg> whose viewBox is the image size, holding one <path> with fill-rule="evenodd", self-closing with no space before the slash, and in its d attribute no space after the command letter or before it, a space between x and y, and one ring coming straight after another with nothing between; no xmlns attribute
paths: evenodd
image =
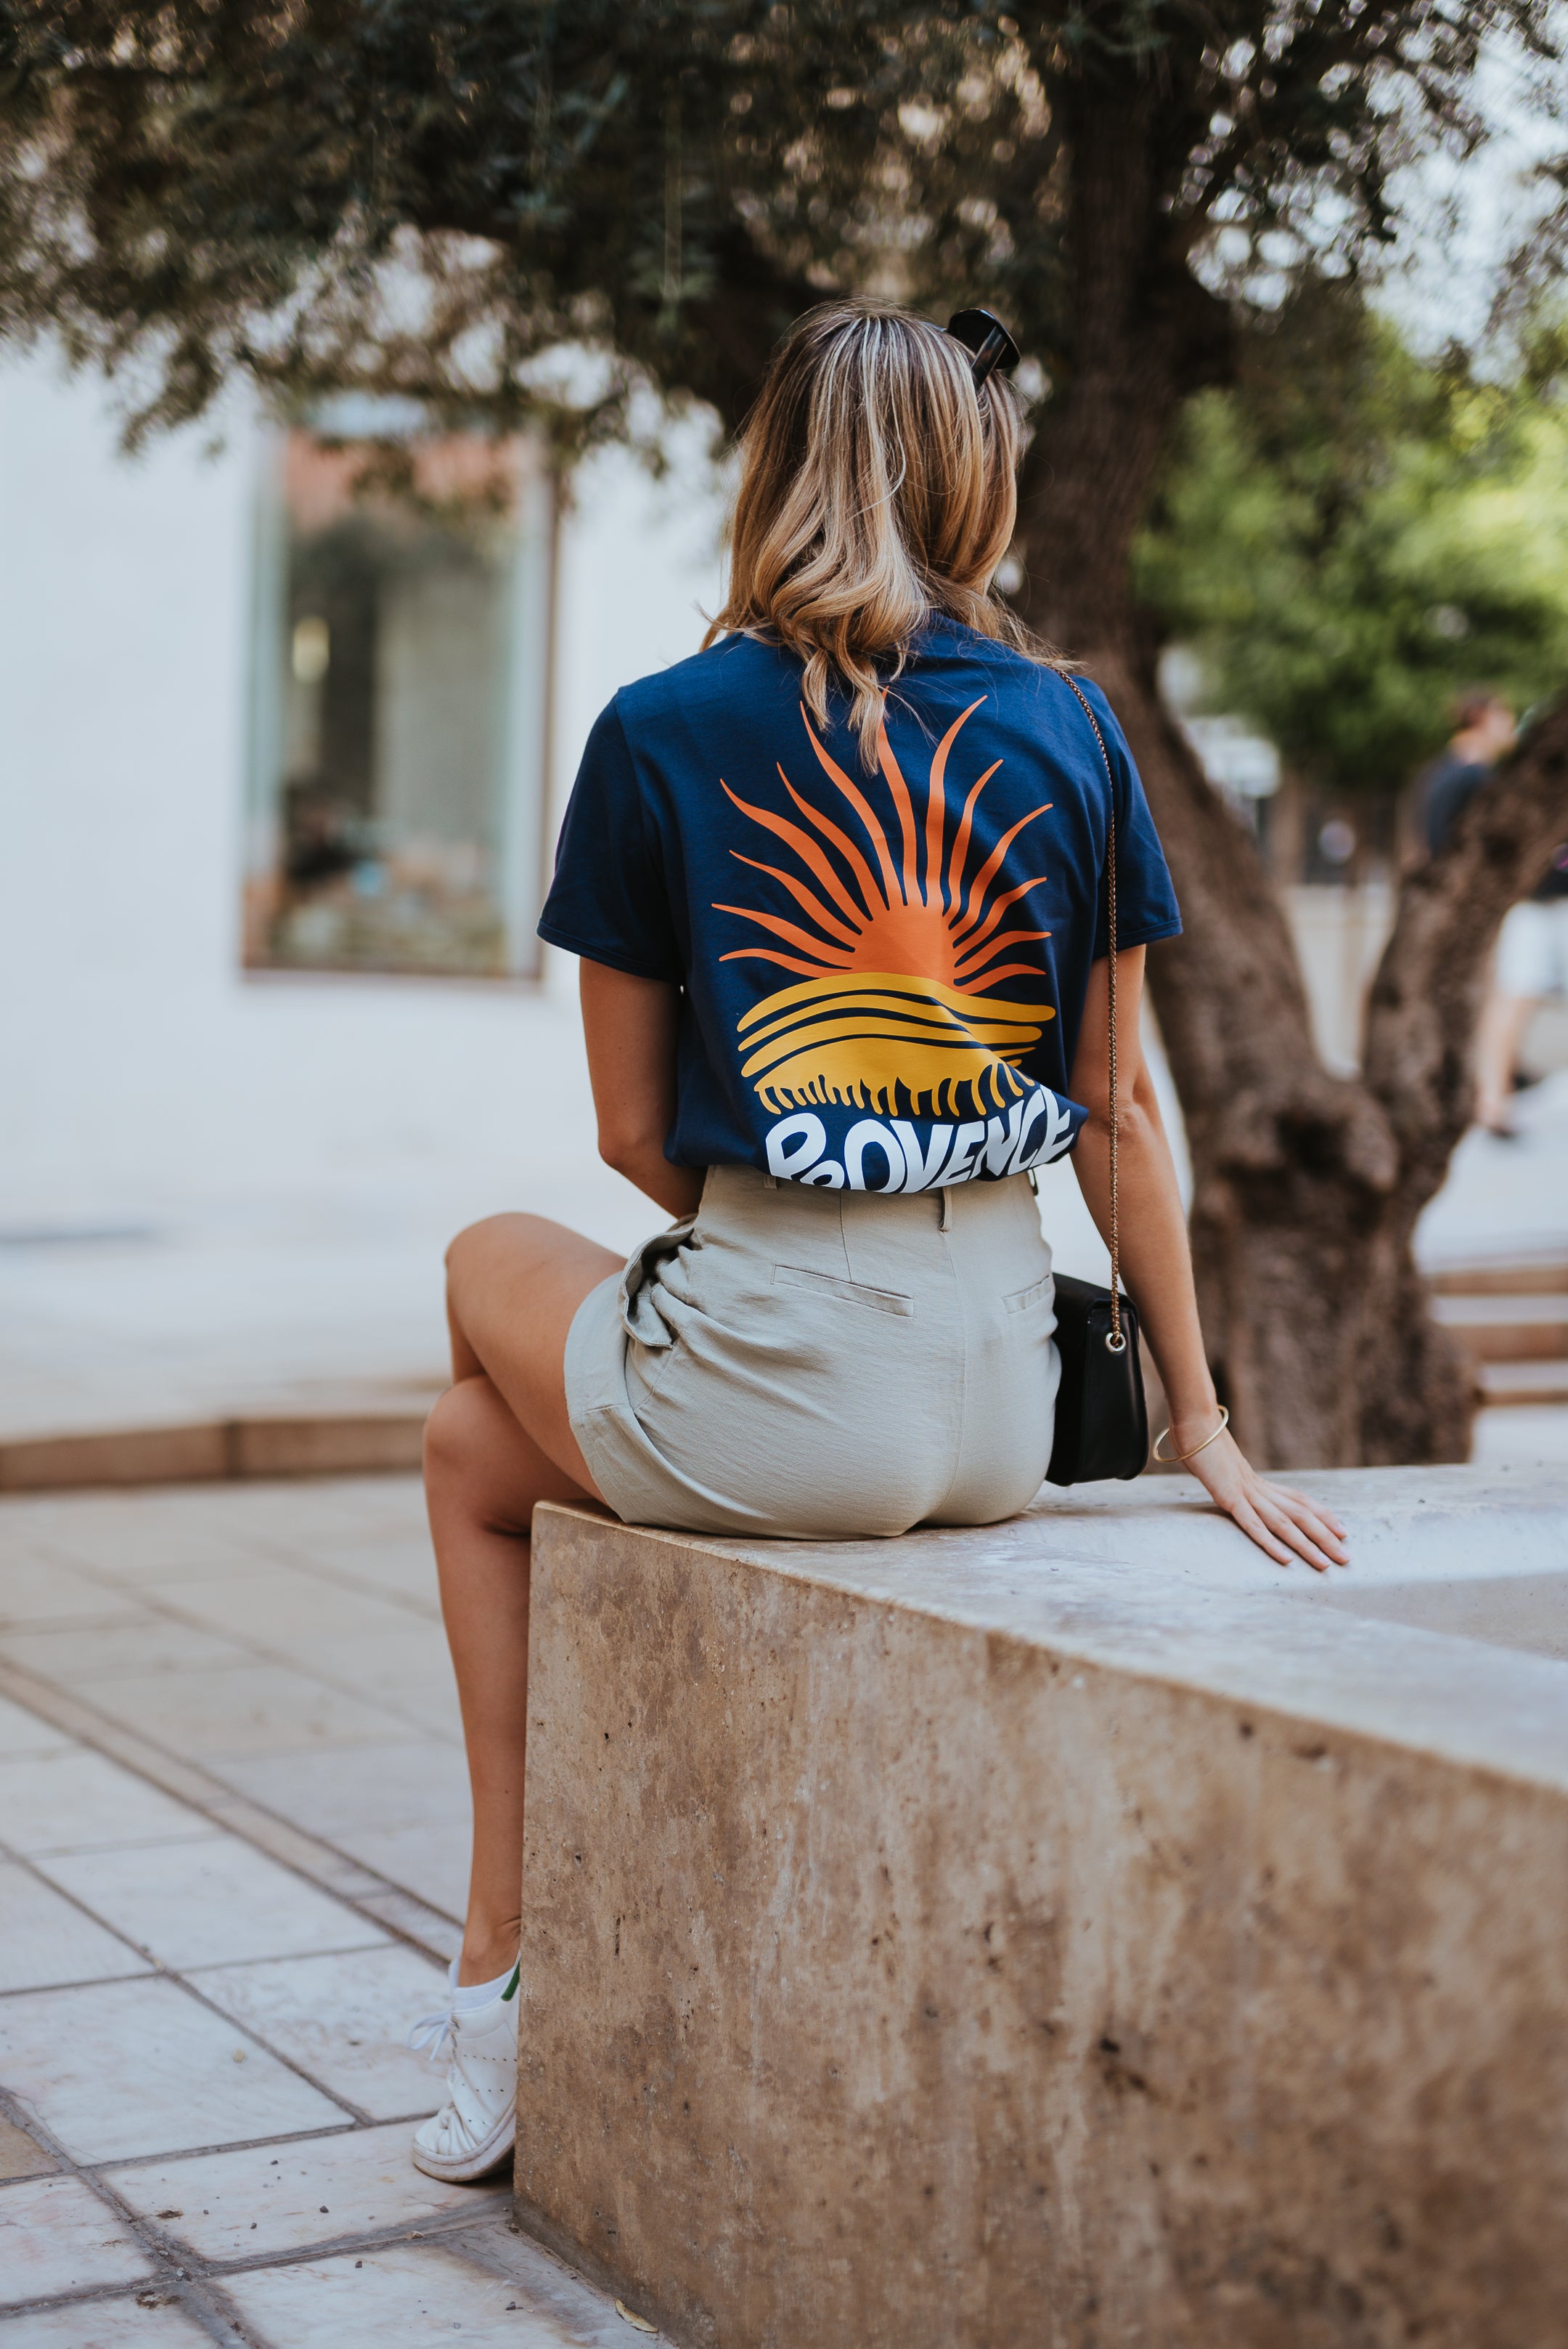
<svg viewBox="0 0 1568 2349"><path fill-rule="evenodd" d="M498 1214L453 1240L453 1386L425 1428L425 1499L474 1790L460 1983L516 1959L535 1501L596 1501L566 1416L566 1332L620 1259L561 1224Z"/></svg>

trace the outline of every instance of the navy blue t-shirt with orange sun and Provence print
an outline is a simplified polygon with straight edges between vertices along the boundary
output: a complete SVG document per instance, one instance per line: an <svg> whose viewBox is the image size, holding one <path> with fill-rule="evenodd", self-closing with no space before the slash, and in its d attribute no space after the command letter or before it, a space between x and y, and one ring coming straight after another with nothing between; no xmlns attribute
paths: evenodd
<svg viewBox="0 0 1568 2349"><path fill-rule="evenodd" d="M1117 942L1181 928L1122 731ZM887 698L876 773L800 662L725 637L596 721L540 937L683 989L676 1165L930 1191L1059 1158L1106 954L1108 787L1052 669L953 620Z"/></svg>

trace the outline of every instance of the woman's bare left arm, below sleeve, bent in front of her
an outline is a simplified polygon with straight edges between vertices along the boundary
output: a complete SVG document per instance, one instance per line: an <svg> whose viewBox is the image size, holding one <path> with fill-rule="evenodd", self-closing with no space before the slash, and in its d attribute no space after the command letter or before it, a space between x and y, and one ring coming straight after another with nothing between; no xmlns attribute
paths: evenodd
<svg viewBox="0 0 1568 2349"><path fill-rule="evenodd" d="M634 980L608 963L580 965L599 1156L674 1217L697 1212L702 1167L671 1167L664 1135L676 1116L681 989Z"/></svg>

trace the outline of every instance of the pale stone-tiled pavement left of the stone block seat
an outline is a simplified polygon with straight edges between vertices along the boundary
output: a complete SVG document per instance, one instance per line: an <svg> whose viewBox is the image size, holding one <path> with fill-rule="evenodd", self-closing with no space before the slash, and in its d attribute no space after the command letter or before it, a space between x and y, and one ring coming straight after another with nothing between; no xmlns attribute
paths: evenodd
<svg viewBox="0 0 1568 2349"><path fill-rule="evenodd" d="M624 2344L408 2161L467 1788L413 1480L0 1503L0 2344Z"/></svg>

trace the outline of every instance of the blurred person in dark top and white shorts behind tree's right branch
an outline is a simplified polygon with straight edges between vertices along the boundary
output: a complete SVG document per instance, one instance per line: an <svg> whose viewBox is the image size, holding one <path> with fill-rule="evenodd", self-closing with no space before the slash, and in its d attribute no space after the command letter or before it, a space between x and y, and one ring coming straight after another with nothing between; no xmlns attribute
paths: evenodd
<svg viewBox="0 0 1568 2349"><path fill-rule="evenodd" d="M1488 688L1467 693L1455 719L1448 747L1418 782L1420 822L1432 855L1448 846L1462 810L1519 740L1514 712ZM1514 1142L1519 1135L1509 1116L1519 1043L1530 1012L1552 994L1568 994L1568 843L1552 857L1535 895L1509 907L1476 1027L1476 1125L1498 1142Z"/></svg>

